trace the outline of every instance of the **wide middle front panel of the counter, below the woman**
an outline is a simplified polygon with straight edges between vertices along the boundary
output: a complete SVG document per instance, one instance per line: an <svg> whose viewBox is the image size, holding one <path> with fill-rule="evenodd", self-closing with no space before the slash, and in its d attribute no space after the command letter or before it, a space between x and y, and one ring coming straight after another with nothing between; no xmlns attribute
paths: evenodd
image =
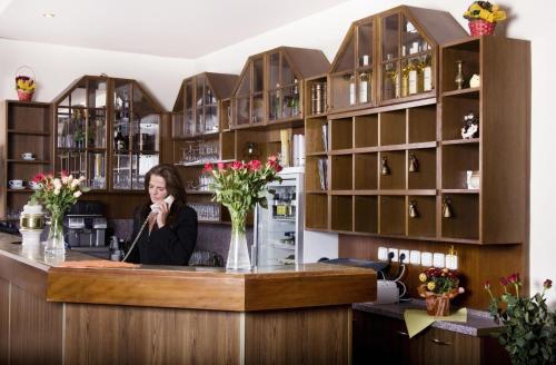
<svg viewBox="0 0 556 365"><path fill-rule="evenodd" d="M69 304L67 364L237 364L239 314Z"/></svg>

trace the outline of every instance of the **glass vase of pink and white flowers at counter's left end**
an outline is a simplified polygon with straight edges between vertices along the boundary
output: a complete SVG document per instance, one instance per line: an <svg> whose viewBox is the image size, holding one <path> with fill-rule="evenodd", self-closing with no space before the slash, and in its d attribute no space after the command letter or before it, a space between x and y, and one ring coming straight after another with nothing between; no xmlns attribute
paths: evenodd
<svg viewBox="0 0 556 365"><path fill-rule="evenodd" d="M85 176L73 178L66 171L60 172L60 177L53 174L38 174L32 181L38 185L31 196L31 203L42 204L50 214L50 231L48 235L44 253L49 255L63 255L66 244L63 240L63 214L76 204L77 199L89 189L81 184Z"/></svg>

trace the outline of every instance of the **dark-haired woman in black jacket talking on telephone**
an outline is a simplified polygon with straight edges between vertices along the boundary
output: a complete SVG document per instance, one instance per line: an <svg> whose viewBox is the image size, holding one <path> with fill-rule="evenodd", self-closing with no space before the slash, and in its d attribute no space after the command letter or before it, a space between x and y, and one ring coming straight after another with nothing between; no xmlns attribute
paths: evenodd
<svg viewBox="0 0 556 365"><path fill-rule="evenodd" d="M197 213L186 205L178 171L171 165L155 166L145 177L145 190L150 199L133 214L132 239L139 237L126 262L187 265L197 241ZM170 195L173 201L168 204Z"/></svg>

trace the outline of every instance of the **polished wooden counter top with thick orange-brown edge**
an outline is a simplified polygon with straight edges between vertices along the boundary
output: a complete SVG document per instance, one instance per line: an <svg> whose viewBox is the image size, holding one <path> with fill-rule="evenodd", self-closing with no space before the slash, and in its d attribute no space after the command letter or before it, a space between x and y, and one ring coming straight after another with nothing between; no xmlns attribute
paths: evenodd
<svg viewBox="0 0 556 365"><path fill-rule="evenodd" d="M60 260L29 250L18 237L0 234L0 256L47 274L49 302L251 312L344 305L374 300L376 273L329 264L224 268L150 266L61 267ZM69 250L64 260L91 259Z"/></svg>

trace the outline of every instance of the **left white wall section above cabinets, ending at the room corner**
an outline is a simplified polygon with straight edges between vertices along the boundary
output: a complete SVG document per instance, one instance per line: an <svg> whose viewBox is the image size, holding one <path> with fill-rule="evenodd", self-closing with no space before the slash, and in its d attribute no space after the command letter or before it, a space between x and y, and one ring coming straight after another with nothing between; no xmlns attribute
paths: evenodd
<svg viewBox="0 0 556 365"><path fill-rule="evenodd" d="M185 59L0 39L0 100L17 99L13 77L22 65L36 73L34 101L52 101L83 75L107 73L137 79L167 110L193 69Z"/></svg>

